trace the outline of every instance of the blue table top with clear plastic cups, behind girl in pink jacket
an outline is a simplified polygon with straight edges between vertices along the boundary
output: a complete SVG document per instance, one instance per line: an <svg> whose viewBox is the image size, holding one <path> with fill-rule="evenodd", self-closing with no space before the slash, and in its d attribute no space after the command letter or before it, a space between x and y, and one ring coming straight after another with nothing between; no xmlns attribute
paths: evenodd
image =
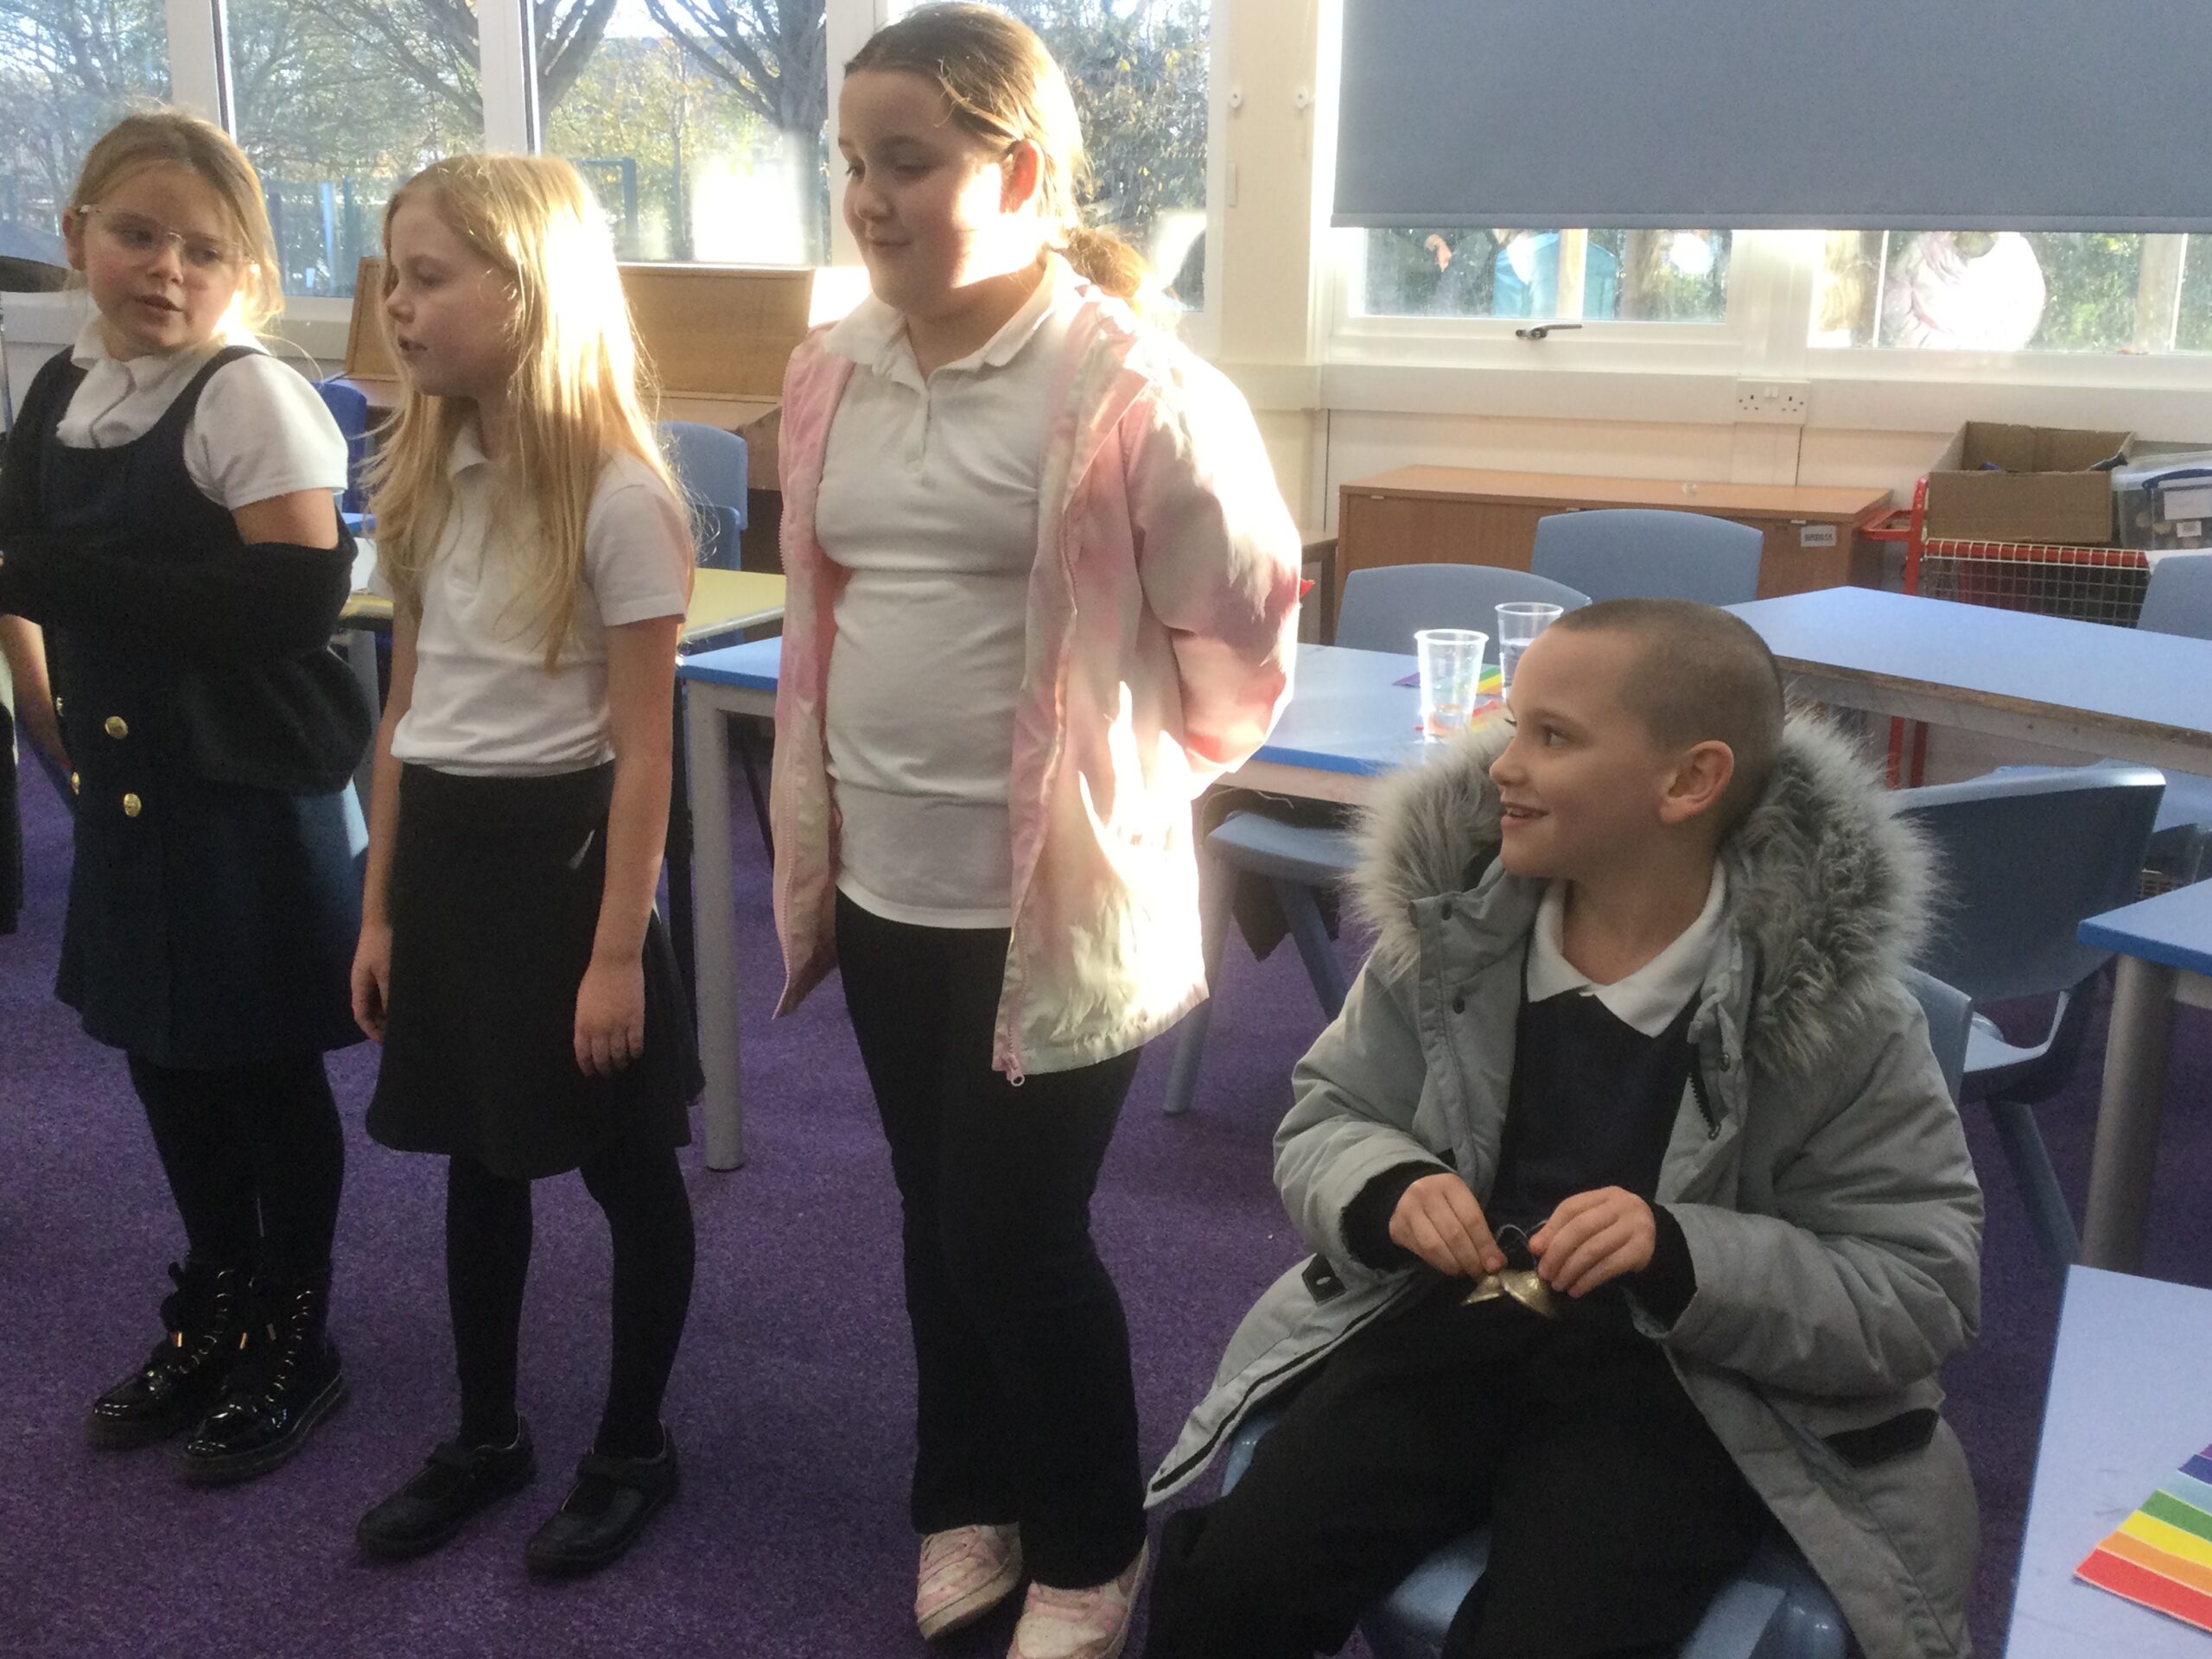
<svg viewBox="0 0 2212 1659"><path fill-rule="evenodd" d="M701 650L677 664L679 679L774 690L783 639ZM1396 681L1413 657L1387 650L1298 646L1290 708L1254 759L1316 772L1374 776L1422 759L1420 688Z"/></svg>

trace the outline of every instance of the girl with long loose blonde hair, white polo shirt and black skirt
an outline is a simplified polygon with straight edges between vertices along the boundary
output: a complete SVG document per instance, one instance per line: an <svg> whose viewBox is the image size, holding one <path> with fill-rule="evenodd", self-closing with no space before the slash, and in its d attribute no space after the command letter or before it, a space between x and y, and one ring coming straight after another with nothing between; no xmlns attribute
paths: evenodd
<svg viewBox="0 0 2212 1659"><path fill-rule="evenodd" d="M535 1471L515 1409L531 1181L606 1212L606 1409L531 1571L613 1562L675 1495L661 1394L690 1305L675 1148L699 1091L653 909L692 540L639 403L606 219L564 161L480 155L385 210L407 376L378 460L394 597L354 1011L383 1042L369 1135L442 1152L458 1433L363 1515L436 1548Z"/></svg>

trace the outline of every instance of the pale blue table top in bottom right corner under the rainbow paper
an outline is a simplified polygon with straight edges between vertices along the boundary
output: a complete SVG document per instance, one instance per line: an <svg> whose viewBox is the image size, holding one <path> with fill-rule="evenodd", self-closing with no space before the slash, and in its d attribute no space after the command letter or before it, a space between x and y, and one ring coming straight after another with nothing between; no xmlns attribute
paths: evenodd
<svg viewBox="0 0 2212 1659"><path fill-rule="evenodd" d="M2079 1584L2081 1557L2212 1442L2212 1292L2070 1267L2006 1659L2205 1659L2212 1639Z"/></svg>

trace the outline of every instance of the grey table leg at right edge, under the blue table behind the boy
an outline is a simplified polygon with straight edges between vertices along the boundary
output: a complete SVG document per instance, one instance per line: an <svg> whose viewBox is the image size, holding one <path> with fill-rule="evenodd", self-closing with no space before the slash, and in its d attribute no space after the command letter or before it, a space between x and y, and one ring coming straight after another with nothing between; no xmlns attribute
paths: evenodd
<svg viewBox="0 0 2212 1659"><path fill-rule="evenodd" d="M2081 1263L2139 1272L2150 1221L2150 1177L2166 1113L2166 1037L2174 1013L2174 969L2121 956L2112 1029L2104 1048L2097 1146L2088 1166Z"/></svg>

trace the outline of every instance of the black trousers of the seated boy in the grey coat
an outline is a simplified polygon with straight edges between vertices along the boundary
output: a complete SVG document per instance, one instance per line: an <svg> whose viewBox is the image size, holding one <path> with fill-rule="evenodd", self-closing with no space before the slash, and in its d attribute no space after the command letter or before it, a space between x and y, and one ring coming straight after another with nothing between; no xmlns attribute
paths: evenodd
<svg viewBox="0 0 2212 1659"><path fill-rule="evenodd" d="M1323 1365L1221 1500L1170 1517L1150 1659L1307 1659L1484 1522L1447 1659L1672 1655L1772 1526L1659 1349L1458 1290Z"/></svg>

